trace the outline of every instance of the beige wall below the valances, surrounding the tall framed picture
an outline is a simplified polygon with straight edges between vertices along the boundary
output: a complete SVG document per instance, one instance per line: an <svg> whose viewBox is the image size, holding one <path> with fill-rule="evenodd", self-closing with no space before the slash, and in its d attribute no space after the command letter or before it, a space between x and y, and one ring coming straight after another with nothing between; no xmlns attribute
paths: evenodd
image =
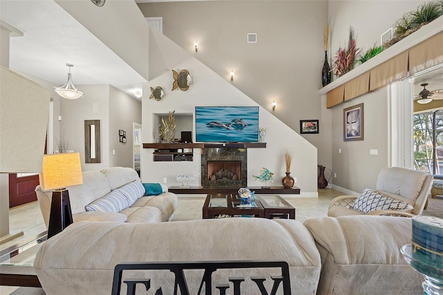
<svg viewBox="0 0 443 295"><path fill-rule="evenodd" d="M336 186L361 192L375 188L381 168L388 166L388 88L384 87L332 109L332 167ZM343 109L363 102L364 140L343 141ZM341 153L338 152L341 149ZM378 154L370 154L377 150Z"/></svg>

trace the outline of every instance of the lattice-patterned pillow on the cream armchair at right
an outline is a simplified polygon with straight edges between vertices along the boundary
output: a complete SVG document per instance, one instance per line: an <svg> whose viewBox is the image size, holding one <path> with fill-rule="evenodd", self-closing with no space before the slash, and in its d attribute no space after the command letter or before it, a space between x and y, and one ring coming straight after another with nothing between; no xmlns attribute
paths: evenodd
<svg viewBox="0 0 443 295"><path fill-rule="evenodd" d="M366 188L354 201L352 208L363 213L376 210L411 211L413 206L407 202L397 201L379 193L377 190Z"/></svg>

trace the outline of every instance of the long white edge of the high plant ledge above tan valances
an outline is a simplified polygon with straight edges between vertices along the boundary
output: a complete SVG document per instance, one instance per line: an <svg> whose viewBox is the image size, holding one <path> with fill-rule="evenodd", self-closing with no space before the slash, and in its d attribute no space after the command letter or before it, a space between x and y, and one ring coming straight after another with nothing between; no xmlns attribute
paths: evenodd
<svg viewBox="0 0 443 295"><path fill-rule="evenodd" d="M366 73L371 69L374 69L376 66L379 66L383 62L386 62L392 59L393 57L396 57L397 55L408 51L410 48L413 48L417 44L426 41L427 39L441 33L442 31L443 31L443 16L431 21L429 24L426 24L425 26L422 26L422 28L419 28L419 30L408 35L404 39L401 39L399 42L390 46L389 48L382 51L375 57L372 57L370 60L368 60L368 62L356 66L356 68L352 69L352 71L345 73L345 75L342 75L340 78L336 78L336 80L327 84L325 87L319 89L318 94L325 95L329 91L332 91L337 87L340 87L341 85L345 84L346 82L349 82L350 80L358 77L359 75L362 75L363 73Z"/></svg>

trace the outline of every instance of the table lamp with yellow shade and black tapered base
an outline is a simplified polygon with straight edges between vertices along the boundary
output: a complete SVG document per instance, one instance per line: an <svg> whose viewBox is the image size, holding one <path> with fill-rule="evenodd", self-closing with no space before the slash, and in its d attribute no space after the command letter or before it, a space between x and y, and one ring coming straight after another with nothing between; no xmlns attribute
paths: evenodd
<svg viewBox="0 0 443 295"><path fill-rule="evenodd" d="M51 238L73 222L66 187L83 184L80 154L45 154L39 180L42 189L53 189L48 225L48 238Z"/></svg>

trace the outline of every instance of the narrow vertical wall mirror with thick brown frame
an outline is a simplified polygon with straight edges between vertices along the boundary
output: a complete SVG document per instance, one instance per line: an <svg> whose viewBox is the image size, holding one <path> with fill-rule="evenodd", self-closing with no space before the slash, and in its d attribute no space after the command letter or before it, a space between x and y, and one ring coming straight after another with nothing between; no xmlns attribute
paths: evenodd
<svg viewBox="0 0 443 295"><path fill-rule="evenodd" d="M84 120L84 163L100 163L100 120Z"/></svg>

